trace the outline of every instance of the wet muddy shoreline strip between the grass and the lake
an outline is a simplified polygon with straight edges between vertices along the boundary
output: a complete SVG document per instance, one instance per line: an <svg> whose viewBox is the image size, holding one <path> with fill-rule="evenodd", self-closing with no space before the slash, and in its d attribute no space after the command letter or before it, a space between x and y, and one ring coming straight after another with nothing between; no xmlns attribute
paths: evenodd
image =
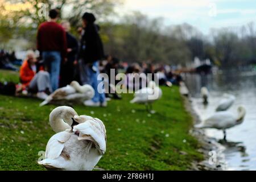
<svg viewBox="0 0 256 182"><path fill-rule="evenodd" d="M201 122L199 115L192 107L192 101L189 97L184 97L185 109L191 114L193 118L193 124ZM201 162L194 162L191 165L191 170L201 171L223 171L227 168L225 162L224 150L225 147L217 142L214 138L209 138L205 135L204 130L192 128L190 131L191 135L197 138L200 143L199 152L204 155L204 160ZM210 153L209 153L210 152ZM212 156L216 156L216 160L210 160ZM213 164L209 163L212 162Z"/></svg>

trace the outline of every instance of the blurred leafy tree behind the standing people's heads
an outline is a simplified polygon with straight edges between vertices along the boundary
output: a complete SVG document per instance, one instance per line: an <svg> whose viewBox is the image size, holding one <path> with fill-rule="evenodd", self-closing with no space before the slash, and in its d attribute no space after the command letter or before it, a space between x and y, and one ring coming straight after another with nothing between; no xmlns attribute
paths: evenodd
<svg viewBox="0 0 256 182"><path fill-rule="evenodd" d="M0 0L0 40L6 44L12 38L25 38L35 45L36 29L47 20L49 9L59 9L61 17L70 20L76 30L85 11L108 17L118 3L121 0Z"/></svg>

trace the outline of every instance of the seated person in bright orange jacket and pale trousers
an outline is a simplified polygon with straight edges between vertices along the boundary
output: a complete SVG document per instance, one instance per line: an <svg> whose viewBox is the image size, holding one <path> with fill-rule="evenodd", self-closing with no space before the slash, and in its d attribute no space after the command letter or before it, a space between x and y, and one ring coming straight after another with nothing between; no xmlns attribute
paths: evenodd
<svg viewBox="0 0 256 182"><path fill-rule="evenodd" d="M35 53L28 51L27 59L20 67L20 81L23 89L37 92L36 97L45 100L48 97L47 93L52 92L49 73L43 71L42 68L38 70L36 62Z"/></svg>

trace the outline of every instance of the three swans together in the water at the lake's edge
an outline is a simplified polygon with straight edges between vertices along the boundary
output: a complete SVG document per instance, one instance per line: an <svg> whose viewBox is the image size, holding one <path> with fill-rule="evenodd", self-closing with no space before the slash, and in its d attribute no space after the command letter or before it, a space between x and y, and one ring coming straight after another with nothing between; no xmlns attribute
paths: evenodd
<svg viewBox="0 0 256 182"><path fill-rule="evenodd" d="M203 98L203 103L208 104L209 92L207 88L201 88L201 97ZM236 97L232 94L224 94L223 98L218 103L216 108L216 113L214 113L208 119L205 119L199 125L196 125L198 128L214 128L218 130L223 130L224 140L226 140L226 129L240 125L245 118L246 110L245 107L239 106L237 113L234 114L230 111L227 111L229 107L234 104Z"/></svg>

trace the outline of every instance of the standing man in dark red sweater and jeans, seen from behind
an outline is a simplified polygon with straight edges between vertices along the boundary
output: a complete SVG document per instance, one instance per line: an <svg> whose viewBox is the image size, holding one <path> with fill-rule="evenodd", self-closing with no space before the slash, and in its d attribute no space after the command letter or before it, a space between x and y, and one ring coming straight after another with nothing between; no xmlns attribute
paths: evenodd
<svg viewBox="0 0 256 182"><path fill-rule="evenodd" d="M38 28L37 47L50 74L52 90L55 91L59 88L61 56L67 61L67 38L64 28L57 23L59 11L50 10L49 18Z"/></svg>

